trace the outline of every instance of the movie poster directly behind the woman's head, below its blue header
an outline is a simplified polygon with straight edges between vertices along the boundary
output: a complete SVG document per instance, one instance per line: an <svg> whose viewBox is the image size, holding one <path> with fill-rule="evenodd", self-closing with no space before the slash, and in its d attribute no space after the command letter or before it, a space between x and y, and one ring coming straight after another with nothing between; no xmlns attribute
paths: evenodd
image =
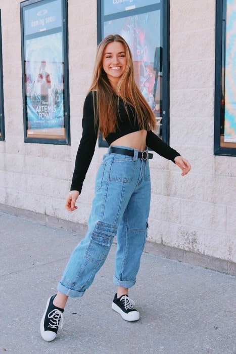
<svg viewBox="0 0 236 354"><path fill-rule="evenodd" d="M158 135L161 135L162 118L160 27L160 10L104 23L104 37L110 33L119 33L131 49L135 80L156 115Z"/></svg>

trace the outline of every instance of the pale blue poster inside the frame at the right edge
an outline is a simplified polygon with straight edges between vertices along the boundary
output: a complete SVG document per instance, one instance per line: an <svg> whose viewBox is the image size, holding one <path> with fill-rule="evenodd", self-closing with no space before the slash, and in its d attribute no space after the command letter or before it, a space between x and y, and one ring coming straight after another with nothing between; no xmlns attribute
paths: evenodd
<svg viewBox="0 0 236 354"><path fill-rule="evenodd" d="M236 2L227 0L224 142L236 143Z"/></svg>

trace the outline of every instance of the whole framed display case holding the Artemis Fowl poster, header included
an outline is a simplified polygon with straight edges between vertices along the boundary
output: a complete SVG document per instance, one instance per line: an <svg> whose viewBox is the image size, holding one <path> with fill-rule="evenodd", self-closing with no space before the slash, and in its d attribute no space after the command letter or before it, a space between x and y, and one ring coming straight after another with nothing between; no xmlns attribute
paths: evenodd
<svg viewBox="0 0 236 354"><path fill-rule="evenodd" d="M25 142L70 143L67 1L21 3Z"/></svg>

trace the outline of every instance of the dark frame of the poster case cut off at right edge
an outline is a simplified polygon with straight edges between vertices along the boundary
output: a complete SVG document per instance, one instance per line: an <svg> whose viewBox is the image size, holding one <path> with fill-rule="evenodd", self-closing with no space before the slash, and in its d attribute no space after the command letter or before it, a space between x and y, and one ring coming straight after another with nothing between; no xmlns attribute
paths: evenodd
<svg viewBox="0 0 236 354"><path fill-rule="evenodd" d="M216 0L216 24L215 24L215 107L214 107L214 154L223 156L236 156L236 144L234 147L222 147L220 136L224 129L224 74L222 67L225 66L225 35L226 24L223 19L223 7L226 0ZM225 87L225 86L224 86Z"/></svg>

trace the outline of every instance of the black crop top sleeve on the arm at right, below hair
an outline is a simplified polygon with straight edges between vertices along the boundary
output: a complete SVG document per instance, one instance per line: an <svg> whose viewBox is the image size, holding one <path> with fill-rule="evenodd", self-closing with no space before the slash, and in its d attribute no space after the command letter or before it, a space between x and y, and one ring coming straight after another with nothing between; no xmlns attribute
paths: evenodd
<svg viewBox="0 0 236 354"><path fill-rule="evenodd" d="M172 149L169 145L158 138L153 131L147 132L146 144L151 150L155 151L162 157L171 160L172 162L174 162L174 158L176 156L180 156L176 150Z"/></svg>

